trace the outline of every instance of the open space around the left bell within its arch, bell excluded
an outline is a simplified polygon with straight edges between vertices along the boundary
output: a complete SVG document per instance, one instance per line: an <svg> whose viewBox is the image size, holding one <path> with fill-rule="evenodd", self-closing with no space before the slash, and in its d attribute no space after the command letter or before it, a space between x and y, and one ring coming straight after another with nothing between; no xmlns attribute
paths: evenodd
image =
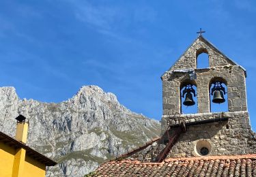
<svg viewBox="0 0 256 177"><path fill-rule="evenodd" d="M182 93L188 84L190 84L192 88L195 90L195 96L194 94L192 94L193 100L195 101L195 105L188 106L189 108L183 105L183 102L186 98L187 93L185 93L184 95ZM197 83L195 82L195 80L186 79L180 82L180 114L192 114L192 113L197 113Z"/></svg>

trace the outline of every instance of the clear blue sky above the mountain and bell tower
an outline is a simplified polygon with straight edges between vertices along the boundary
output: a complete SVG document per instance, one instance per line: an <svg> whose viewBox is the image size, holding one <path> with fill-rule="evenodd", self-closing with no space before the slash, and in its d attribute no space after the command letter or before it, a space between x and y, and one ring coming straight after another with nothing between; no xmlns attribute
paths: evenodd
<svg viewBox="0 0 256 177"><path fill-rule="evenodd" d="M197 37L246 68L256 129L256 2L0 1L0 83L20 98L59 102L81 86L115 93L134 112L160 119L160 76Z"/></svg>

